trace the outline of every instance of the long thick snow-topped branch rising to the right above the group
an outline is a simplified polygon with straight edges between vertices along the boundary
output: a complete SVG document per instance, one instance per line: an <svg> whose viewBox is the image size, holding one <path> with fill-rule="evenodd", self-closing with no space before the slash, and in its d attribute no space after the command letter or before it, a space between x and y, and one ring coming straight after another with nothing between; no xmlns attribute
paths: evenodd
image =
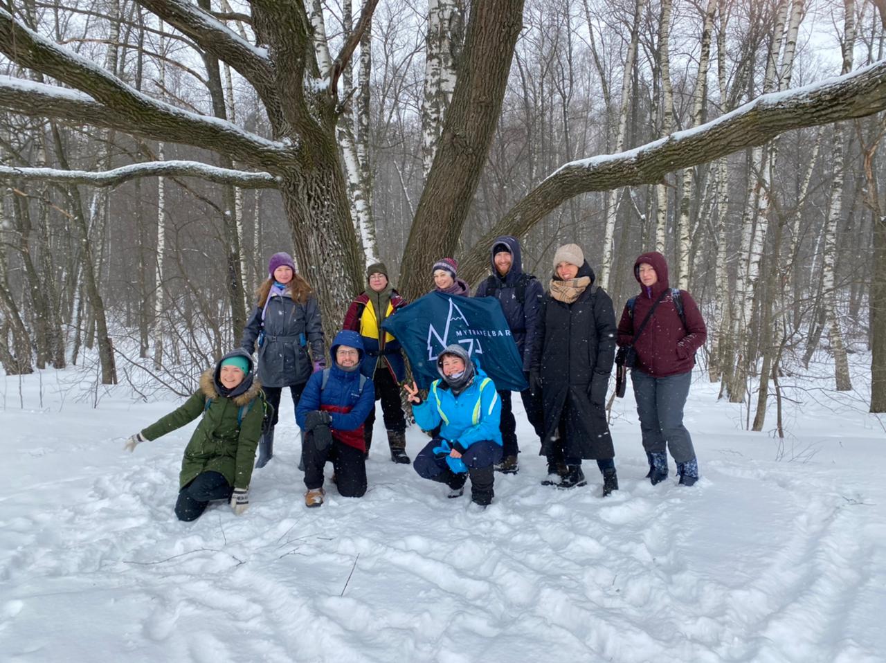
<svg viewBox="0 0 886 663"><path fill-rule="evenodd" d="M462 261L459 276L469 283L476 281L488 268L494 238L524 235L535 222L581 193L654 184L674 170L765 144L785 131L866 117L884 108L886 60L880 60L851 74L762 95L716 120L633 150L571 161L548 175L478 241Z"/></svg>

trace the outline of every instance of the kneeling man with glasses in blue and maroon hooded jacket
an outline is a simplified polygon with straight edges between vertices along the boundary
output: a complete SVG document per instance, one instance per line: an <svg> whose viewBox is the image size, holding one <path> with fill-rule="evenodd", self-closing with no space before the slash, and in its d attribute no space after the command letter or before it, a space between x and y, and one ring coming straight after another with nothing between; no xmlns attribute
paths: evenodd
<svg viewBox="0 0 886 663"><path fill-rule="evenodd" d="M372 380L360 372L363 341L356 331L339 331L330 347L332 366L315 373L301 393L295 420L301 427L305 461L305 504L323 504L323 466L343 497L366 493L363 422L376 407Z"/></svg>

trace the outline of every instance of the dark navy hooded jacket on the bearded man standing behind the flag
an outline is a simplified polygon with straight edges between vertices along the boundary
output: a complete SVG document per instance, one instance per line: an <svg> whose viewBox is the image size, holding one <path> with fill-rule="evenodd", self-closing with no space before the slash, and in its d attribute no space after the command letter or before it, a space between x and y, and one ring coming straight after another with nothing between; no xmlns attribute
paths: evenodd
<svg viewBox="0 0 886 663"><path fill-rule="evenodd" d="M495 269L495 247L500 244L508 246L511 254L510 269L503 278ZM499 300L501 311L508 321L514 342L517 343L517 351L523 359L523 370L528 372L531 363L530 350L535 342L535 333L539 328L539 307L541 299L545 295L545 289L539 279L529 274L524 276L523 254L517 238L509 235L495 238L489 253L492 276L485 278L478 285L474 297L494 296ZM517 282L520 277L525 278L525 297L522 303L517 299Z"/></svg>

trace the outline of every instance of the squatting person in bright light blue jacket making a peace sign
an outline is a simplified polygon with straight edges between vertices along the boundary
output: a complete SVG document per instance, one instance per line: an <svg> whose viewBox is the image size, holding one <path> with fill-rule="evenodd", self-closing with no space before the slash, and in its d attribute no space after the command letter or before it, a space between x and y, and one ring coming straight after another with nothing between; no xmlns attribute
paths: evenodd
<svg viewBox="0 0 886 663"><path fill-rule="evenodd" d="M440 379L431 383L426 401L415 382L406 387L416 423L425 431L440 426L413 467L424 479L447 484L449 497L461 496L470 476L471 500L486 507L494 496L493 466L501 462L501 399L492 379L457 343L439 355L437 370Z"/></svg>

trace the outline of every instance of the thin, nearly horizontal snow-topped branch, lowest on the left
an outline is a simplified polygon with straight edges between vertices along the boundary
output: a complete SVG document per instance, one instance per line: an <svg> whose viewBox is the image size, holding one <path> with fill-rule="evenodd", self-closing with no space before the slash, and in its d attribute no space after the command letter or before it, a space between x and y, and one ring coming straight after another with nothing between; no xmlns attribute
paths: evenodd
<svg viewBox="0 0 886 663"><path fill-rule="evenodd" d="M138 177L199 177L206 182L233 184L243 189L274 189L277 181L270 173L248 173L245 170L217 168L199 161L145 161L113 170L60 170L58 168L14 168L0 166L0 182L28 180L89 186L119 186Z"/></svg>

